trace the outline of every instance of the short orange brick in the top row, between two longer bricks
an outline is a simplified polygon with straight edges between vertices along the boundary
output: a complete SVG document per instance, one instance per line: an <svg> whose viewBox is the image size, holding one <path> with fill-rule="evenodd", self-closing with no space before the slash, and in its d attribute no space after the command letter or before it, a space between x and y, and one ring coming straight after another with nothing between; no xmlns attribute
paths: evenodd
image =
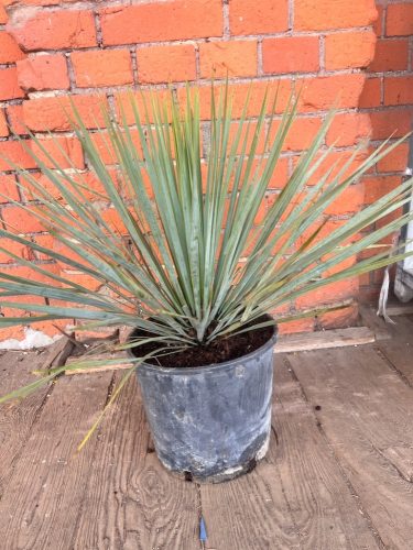
<svg viewBox="0 0 413 550"><path fill-rule="evenodd" d="M229 0L230 33L265 34L289 29L287 0L278 2L261 0L251 4L251 0Z"/></svg>

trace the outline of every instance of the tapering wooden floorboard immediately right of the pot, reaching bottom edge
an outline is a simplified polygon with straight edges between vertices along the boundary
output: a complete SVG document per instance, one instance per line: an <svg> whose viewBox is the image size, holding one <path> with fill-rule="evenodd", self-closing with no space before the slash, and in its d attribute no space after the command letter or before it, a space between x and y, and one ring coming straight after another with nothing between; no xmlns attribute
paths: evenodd
<svg viewBox="0 0 413 550"><path fill-rule="evenodd" d="M275 367L273 425L281 444L272 453L301 548L379 548L317 427L314 410L284 361L278 361Z"/></svg>

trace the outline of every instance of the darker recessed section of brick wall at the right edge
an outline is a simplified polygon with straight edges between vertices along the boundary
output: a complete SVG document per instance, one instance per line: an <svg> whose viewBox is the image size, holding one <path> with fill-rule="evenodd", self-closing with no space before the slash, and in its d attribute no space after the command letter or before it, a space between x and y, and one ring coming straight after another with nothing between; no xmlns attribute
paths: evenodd
<svg viewBox="0 0 413 550"><path fill-rule="evenodd" d="M377 44L368 66L359 112L371 124L371 147L392 133L394 139L412 129L413 103L413 3L378 0L374 22ZM365 201L372 202L400 184L406 167L409 146L401 145L365 178ZM381 272L360 277L366 299L377 296Z"/></svg>

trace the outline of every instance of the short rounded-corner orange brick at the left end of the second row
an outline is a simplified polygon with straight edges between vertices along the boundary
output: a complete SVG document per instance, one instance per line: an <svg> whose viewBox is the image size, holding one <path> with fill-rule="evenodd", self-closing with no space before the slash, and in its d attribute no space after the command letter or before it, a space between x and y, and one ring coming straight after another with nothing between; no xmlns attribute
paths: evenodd
<svg viewBox="0 0 413 550"><path fill-rule="evenodd" d="M62 54L32 55L17 66L19 84L25 91L63 90L70 86Z"/></svg>

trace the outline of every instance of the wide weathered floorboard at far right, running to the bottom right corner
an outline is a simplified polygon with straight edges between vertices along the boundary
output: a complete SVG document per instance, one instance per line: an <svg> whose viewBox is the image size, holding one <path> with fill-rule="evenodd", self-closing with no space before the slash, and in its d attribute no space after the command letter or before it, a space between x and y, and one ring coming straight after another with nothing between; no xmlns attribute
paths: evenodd
<svg viewBox="0 0 413 550"><path fill-rule="evenodd" d="M289 361L383 543L411 548L413 485L384 452L413 446L413 391L372 346Z"/></svg>

